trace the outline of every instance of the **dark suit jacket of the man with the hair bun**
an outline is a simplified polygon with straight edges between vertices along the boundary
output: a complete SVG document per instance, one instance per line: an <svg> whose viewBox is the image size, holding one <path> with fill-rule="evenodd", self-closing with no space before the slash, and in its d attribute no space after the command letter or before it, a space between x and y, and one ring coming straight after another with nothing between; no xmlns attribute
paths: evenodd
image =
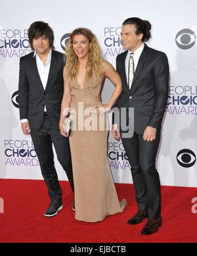
<svg viewBox="0 0 197 256"><path fill-rule="evenodd" d="M134 108L134 131L137 134L143 134L148 125L160 129L169 91L167 56L162 51L149 48L145 44L135 71L131 90L129 90L125 73L127 53L128 51L121 53L116 59L116 68L121 77L123 91L114 108L127 108L127 110ZM116 121L115 116L113 123Z"/></svg>

